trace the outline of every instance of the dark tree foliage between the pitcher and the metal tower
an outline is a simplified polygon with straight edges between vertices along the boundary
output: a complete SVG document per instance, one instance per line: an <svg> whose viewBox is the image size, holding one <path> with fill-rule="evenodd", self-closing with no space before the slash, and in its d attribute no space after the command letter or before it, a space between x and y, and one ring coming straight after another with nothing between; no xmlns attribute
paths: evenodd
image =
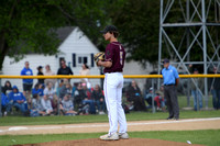
<svg viewBox="0 0 220 146"><path fill-rule="evenodd" d="M124 0L110 13L128 48L129 60L156 61L158 58L160 1Z"/></svg>

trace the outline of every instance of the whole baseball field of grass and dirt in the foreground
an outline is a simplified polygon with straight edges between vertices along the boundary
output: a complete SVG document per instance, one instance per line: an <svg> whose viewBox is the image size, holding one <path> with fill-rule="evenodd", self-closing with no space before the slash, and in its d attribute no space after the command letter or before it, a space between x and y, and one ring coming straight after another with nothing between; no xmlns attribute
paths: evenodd
<svg viewBox="0 0 220 146"><path fill-rule="evenodd" d="M130 139L102 142L109 128L107 115L7 116L0 119L0 146L185 146L220 145L220 111L182 111L179 121L167 121L166 112L127 114Z"/></svg>

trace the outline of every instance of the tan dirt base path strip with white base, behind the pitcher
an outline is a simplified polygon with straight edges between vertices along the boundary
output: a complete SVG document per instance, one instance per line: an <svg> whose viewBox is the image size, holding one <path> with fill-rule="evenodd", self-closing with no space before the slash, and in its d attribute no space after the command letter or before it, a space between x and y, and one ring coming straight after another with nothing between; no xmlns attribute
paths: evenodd
<svg viewBox="0 0 220 146"><path fill-rule="evenodd" d="M188 120L157 120L128 122L129 132L147 131L194 131L220 130L220 117L188 119ZM108 123L84 123L64 125L29 125L29 126L0 126L0 135L24 134L62 134L62 133L99 133L108 132Z"/></svg>

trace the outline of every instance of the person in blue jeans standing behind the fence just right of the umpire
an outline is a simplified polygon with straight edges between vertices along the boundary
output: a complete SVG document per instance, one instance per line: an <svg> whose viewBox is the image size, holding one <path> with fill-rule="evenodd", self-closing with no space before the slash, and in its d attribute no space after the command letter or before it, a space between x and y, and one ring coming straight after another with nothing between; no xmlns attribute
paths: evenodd
<svg viewBox="0 0 220 146"><path fill-rule="evenodd" d="M194 75L198 75L199 71L197 68L194 69ZM194 78L194 81L191 81L191 94L194 97L194 110L197 111L198 106L197 103L199 103L199 109L202 108L202 96L201 90L204 88L204 78Z"/></svg>

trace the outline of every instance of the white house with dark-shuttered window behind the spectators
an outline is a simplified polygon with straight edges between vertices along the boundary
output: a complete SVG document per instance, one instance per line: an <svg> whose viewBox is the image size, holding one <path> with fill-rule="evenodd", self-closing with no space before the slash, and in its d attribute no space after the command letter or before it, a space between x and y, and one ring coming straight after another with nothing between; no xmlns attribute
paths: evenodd
<svg viewBox="0 0 220 146"><path fill-rule="evenodd" d="M90 42L90 40L84 35L84 33L78 27L62 27L57 30L57 34L62 44L58 46L59 53L53 56L45 56L41 54L29 54L25 55L23 59L18 63L13 61L13 58L8 56L4 58L2 74L3 75L20 75L24 67L24 63L28 60L30 63L30 68L33 74L37 74L37 66L50 65L51 69L56 74L59 68L59 60L65 59L67 66L72 68L74 75L79 75L81 65L87 63L90 67L90 75L100 75L100 68L98 68L94 63L94 54L98 53L99 49ZM153 70L153 67L148 64L147 69L143 69L141 65L136 61L127 63L124 66L124 75L146 75ZM8 79L2 79L2 86ZM12 85L16 85L20 90L22 90L21 79L10 79ZM79 79L72 79L72 82L77 82ZM90 79L92 86L100 83L100 79ZM131 81L131 79L125 79L125 81ZM136 79L141 89L145 83L145 79ZM37 80L34 79L34 83Z"/></svg>

